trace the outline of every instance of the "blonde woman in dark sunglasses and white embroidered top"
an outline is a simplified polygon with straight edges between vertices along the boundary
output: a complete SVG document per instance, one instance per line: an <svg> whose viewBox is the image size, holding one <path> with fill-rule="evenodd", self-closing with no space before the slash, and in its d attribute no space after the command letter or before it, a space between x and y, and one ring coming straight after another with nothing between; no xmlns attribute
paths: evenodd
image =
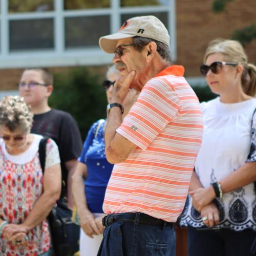
<svg viewBox="0 0 256 256"><path fill-rule="evenodd" d="M210 42L200 67L211 91L181 218L189 256L256 253L256 67L235 40Z"/></svg>

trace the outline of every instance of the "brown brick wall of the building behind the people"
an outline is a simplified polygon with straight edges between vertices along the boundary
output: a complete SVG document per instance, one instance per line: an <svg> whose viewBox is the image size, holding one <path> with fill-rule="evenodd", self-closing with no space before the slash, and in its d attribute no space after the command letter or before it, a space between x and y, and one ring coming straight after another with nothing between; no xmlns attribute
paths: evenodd
<svg viewBox="0 0 256 256"><path fill-rule="evenodd" d="M232 32L256 24L256 0L234 0L222 13L211 10L212 0L176 0L177 61L185 66L186 76L201 76L199 66L208 42L217 37L230 38ZM172 43L172 42L171 42ZM246 46L250 62L256 63L256 40ZM51 68L65 72L67 68ZM105 67L91 67L104 76ZM23 69L0 70L0 90L15 90Z"/></svg>

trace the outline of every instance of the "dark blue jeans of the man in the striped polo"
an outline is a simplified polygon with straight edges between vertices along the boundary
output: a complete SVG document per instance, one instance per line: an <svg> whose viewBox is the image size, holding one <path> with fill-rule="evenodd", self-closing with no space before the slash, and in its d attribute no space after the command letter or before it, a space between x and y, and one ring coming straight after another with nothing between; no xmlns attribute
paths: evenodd
<svg viewBox="0 0 256 256"><path fill-rule="evenodd" d="M171 226L115 221L103 233L98 256L156 256L176 254L176 233Z"/></svg>

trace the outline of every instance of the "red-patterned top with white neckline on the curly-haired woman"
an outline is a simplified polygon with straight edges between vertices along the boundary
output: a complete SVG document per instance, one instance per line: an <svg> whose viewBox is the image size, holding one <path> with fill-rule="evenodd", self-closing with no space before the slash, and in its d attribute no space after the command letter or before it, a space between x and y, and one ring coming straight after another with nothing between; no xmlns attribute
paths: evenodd
<svg viewBox="0 0 256 256"><path fill-rule="evenodd" d="M42 194L42 170L38 145L42 136L33 134L33 142L20 155L10 155L3 139L0 139L0 218L8 223L25 221L36 201ZM58 147L53 140L46 146L46 168L60 163ZM49 224L44 220L27 234L29 241L15 244L1 237L1 256L35 256L50 249Z"/></svg>

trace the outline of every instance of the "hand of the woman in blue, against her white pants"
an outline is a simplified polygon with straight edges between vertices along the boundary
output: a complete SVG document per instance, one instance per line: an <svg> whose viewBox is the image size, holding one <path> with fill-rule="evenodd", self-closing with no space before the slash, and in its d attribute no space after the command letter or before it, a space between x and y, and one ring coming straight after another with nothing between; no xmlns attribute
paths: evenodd
<svg viewBox="0 0 256 256"><path fill-rule="evenodd" d="M92 212L87 212L86 215L79 216L79 220L83 232L86 233L88 237L93 238L93 234L102 233L96 224L96 219L94 218Z"/></svg>

